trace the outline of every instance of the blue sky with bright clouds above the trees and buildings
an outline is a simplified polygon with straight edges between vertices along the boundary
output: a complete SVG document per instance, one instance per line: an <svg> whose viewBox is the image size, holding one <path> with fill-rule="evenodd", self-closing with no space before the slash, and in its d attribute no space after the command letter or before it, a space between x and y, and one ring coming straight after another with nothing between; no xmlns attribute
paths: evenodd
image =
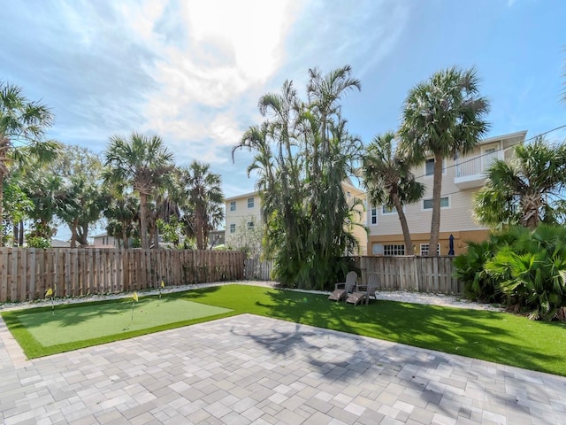
<svg viewBox="0 0 566 425"><path fill-rule="evenodd" d="M50 106L49 137L103 153L111 135L160 135L179 166L255 189L233 146L262 122L257 100L310 68L361 81L342 104L364 143L395 130L411 88L474 66L486 136L566 124L563 0L27 0L2 2L0 81ZM547 139L562 142L566 131Z"/></svg>

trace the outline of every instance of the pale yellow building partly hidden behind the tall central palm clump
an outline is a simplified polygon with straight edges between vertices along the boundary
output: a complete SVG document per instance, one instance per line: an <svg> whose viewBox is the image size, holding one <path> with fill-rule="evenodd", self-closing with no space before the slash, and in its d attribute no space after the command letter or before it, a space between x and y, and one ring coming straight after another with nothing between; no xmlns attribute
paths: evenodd
<svg viewBox="0 0 566 425"><path fill-rule="evenodd" d="M347 200L351 199L353 201L354 198L357 198L363 202L365 201L365 193L363 190L356 188L356 186L350 182L342 182L342 189L344 190ZM228 240L231 234L236 233L236 228L239 226L245 225L251 227L255 225L254 223L262 222L261 202L261 197L257 191L237 197L226 198L226 240ZM363 227L363 223L366 221L366 213L363 211L363 205L358 205L356 208L360 212L360 226L353 226L352 228L354 236L356 236L356 239L360 243L360 250L356 252L356 254L366 255L367 232Z"/></svg>

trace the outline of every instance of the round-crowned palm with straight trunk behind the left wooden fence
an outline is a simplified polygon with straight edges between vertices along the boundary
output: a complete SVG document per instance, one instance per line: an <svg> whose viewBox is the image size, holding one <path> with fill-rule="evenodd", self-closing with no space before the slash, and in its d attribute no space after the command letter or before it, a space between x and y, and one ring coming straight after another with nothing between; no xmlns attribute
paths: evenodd
<svg viewBox="0 0 566 425"><path fill-rule="evenodd" d="M170 181L174 170L172 152L158 135L134 132L127 139L113 135L110 142L104 152L104 165L109 167L104 178L119 188L131 187L140 196L140 239L142 249L147 250L148 199L159 186Z"/></svg>

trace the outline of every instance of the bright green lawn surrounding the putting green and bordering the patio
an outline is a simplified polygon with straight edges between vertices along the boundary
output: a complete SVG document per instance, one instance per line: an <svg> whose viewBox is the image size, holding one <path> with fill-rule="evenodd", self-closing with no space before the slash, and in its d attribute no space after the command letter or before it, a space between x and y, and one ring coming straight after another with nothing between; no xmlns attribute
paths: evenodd
<svg viewBox="0 0 566 425"><path fill-rule="evenodd" d="M140 305L136 305L136 308L142 306L144 299L146 298L140 298ZM230 311L153 328L127 330L112 336L101 336L91 340L91 343L82 341L79 346L101 344L113 339L234 314L252 313L566 376L566 326L560 322L528 321L524 317L509 313L391 301L372 301L370 305L344 305L328 301L324 295L246 285L190 290L168 294L166 299L168 301L161 302L185 300ZM129 300L121 302L126 305L126 309L131 306ZM95 306L101 304L109 302L89 303ZM56 307L56 315L59 313L58 308L62 309L62 306ZM20 319L21 316L34 315L35 312L50 314L50 307L2 313L4 321L19 344L24 347L28 357L57 352L53 351L53 348L57 348L59 352L77 348L65 344L48 347L40 344L43 349L39 349L39 343L26 328L26 321L31 319ZM129 321L126 313L121 315L126 316ZM81 323L70 320L66 326L76 327L80 332ZM30 346L34 346L34 349L30 349Z"/></svg>

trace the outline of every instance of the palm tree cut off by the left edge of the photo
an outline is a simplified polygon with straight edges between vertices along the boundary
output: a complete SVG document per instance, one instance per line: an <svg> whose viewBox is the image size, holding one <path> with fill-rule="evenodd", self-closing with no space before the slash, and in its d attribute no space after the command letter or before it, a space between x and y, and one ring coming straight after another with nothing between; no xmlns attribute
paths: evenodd
<svg viewBox="0 0 566 425"><path fill-rule="evenodd" d="M43 141L52 120L47 106L30 102L18 86L0 81L0 218L4 216L4 178L11 161L21 161L27 155L49 161L57 155L58 144ZM3 226L0 220L0 235L4 234Z"/></svg>

